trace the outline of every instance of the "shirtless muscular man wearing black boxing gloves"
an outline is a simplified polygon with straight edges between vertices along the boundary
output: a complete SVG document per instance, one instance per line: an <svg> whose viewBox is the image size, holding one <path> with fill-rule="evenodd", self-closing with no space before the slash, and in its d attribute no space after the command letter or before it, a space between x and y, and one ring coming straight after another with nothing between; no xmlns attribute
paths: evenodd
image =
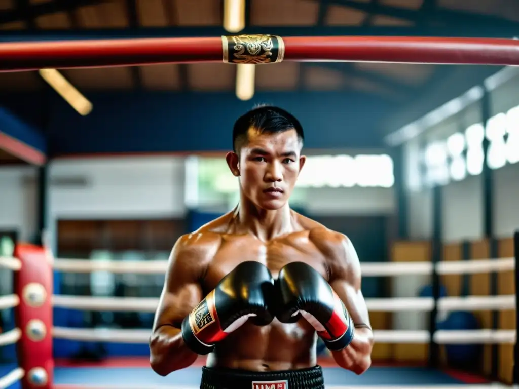
<svg viewBox="0 0 519 389"><path fill-rule="evenodd" d="M357 253L288 203L303 140L301 124L277 107L236 121L226 161L240 202L172 249L149 342L161 376L208 355L201 388L324 388L317 336L340 367L370 367Z"/></svg>

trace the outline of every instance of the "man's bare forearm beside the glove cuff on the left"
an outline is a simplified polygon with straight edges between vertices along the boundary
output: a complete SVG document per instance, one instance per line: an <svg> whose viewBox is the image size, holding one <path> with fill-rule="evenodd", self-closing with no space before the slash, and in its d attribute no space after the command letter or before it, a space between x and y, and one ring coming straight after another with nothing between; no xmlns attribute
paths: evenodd
<svg viewBox="0 0 519 389"><path fill-rule="evenodd" d="M188 367L198 358L185 345L181 330L172 326L155 330L149 339L149 351L152 369L160 376Z"/></svg>

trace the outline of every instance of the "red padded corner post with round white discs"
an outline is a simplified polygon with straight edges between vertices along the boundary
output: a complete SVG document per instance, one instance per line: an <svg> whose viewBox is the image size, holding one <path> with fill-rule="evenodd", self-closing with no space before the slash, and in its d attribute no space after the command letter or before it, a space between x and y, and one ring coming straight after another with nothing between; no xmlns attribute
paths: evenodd
<svg viewBox="0 0 519 389"><path fill-rule="evenodd" d="M17 344L20 367L25 371L23 389L51 389L52 359L52 263L44 248L18 244L15 257L22 262L14 272L20 304L15 321L22 332Z"/></svg>

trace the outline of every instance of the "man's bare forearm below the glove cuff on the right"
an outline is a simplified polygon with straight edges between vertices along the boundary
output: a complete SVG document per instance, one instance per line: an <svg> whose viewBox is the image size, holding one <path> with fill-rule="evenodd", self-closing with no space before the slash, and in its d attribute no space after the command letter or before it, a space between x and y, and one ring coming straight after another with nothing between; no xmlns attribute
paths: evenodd
<svg viewBox="0 0 519 389"><path fill-rule="evenodd" d="M335 362L340 367L362 374L371 366L373 331L367 327L356 327L350 345L340 351L332 351Z"/></svg>

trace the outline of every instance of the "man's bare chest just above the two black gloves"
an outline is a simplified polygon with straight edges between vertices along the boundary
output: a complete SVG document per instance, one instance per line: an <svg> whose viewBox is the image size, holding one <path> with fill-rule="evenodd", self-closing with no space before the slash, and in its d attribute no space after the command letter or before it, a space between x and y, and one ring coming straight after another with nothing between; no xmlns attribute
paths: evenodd
<svg viewBox="0 0 519 389"><path fill-rule="evenodd" d="M287 263L305 262L327 278L325 259L317 247L306 239L267 243L256 239L224 242L209 264L204 277L204 289L214 288L226 274L244 261L263 263L274 277Z"/></svg>

